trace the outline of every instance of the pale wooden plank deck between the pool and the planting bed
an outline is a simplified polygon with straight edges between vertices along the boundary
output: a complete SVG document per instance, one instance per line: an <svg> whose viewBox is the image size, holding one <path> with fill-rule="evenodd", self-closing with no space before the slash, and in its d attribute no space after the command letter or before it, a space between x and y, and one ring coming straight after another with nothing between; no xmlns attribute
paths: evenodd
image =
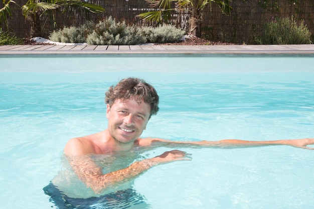
<svg viewBox="0 0 314 209"><path fill-rule="evenodd" d="M4 45L9 54L308 54L314 45Z"/></svg>

